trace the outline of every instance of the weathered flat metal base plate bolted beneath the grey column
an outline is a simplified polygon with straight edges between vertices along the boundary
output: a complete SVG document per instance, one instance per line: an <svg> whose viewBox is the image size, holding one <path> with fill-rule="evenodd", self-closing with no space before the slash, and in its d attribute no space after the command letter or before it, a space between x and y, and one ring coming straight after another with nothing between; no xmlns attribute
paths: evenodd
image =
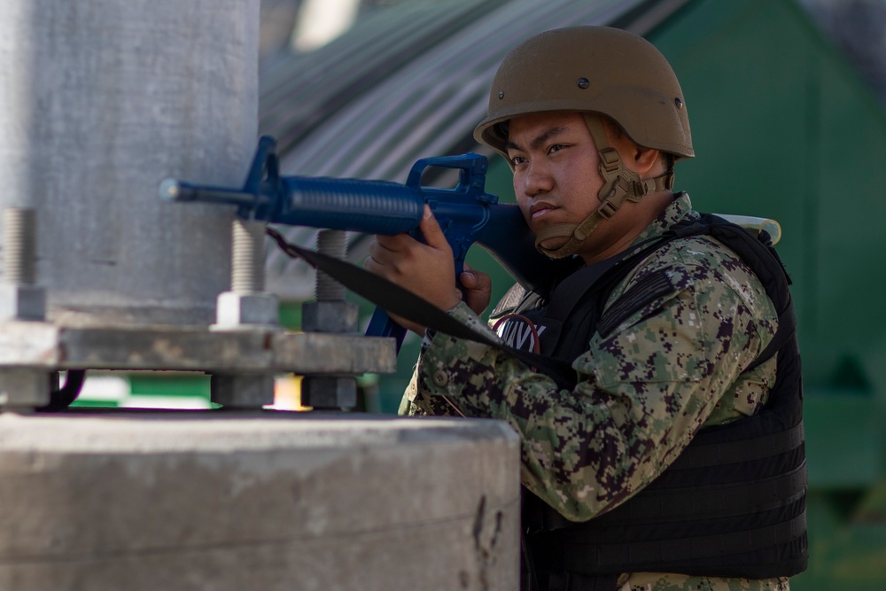
<svg viewBox="0 0 886 591"><path fill-rule="evenodd" d="M175 369L360 375L393 373L392 338L268 328L0 323L0 368Z"/></svg>

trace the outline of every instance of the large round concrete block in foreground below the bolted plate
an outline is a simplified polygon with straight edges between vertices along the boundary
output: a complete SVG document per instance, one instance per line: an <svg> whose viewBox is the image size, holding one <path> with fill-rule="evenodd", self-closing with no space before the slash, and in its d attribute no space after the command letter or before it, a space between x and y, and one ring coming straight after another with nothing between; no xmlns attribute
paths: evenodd
<svg viewBox="0 0 886 591"><path fill-rule="evenodd" d="M163 416L0 416L0 588L519 587L507 424Z"/></svg>

